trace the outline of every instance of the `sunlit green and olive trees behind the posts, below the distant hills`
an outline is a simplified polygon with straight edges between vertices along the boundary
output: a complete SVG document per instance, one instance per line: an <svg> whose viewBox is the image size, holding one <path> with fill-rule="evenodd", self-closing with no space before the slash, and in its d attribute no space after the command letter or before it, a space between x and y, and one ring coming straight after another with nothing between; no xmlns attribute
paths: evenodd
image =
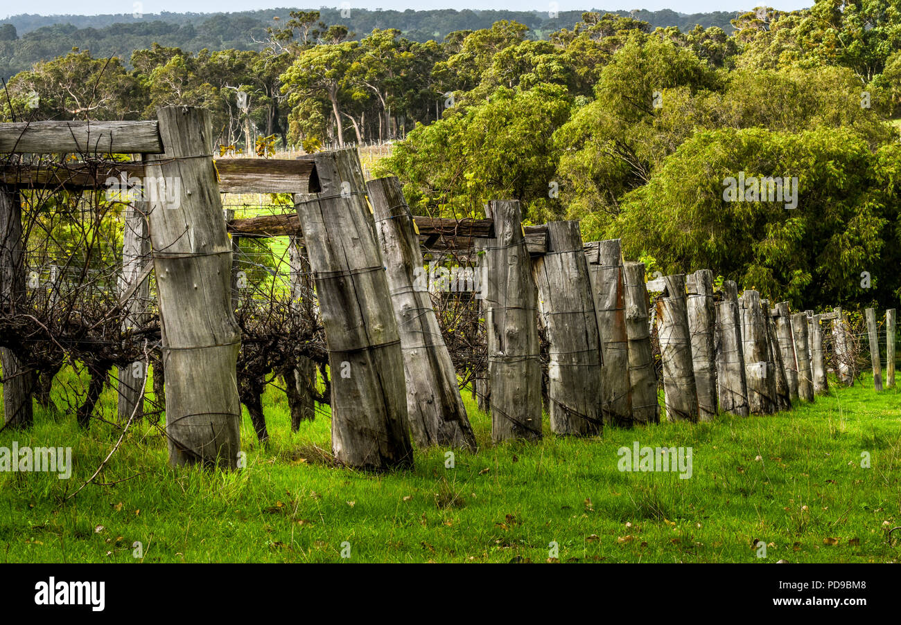
<svg viewBox="0 0 901 625"><path fill-rule="evenodd" d="M622 237L650 273L708 267L795 308L895 307L901 0L760 8L732 26L584 13L546 39L501 20L415 41L295 12L260 50L73 51L14 76L3 111L142 119L198 104L237 149L395 140L375 174L401 179L414 214L478 217L514 198L533 223Z"/></svg>

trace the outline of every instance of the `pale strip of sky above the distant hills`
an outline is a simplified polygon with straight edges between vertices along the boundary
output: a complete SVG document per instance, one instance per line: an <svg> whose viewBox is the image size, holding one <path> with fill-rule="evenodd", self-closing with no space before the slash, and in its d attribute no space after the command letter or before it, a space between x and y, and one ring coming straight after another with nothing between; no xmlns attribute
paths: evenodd
<svg viewBox="0 0 901 625"><path fill-rule="evenodd" d="M132 13L133 0L80 0L73 3L71 0L32 0L23 4L8 4L3 14L9 17L19 13L38 13L41 15L76 14L96 15L101 13ZM252 11L256 9L268 9L278 6L290 6L292 8L319 8L320 6L338 7L341 2L323 2L318 0L309 4L292 5L279 0L141 0L141 13L159 13L168 11L172 13L214 13ZM414 9L496 9L508 11L544 11L548 10L550 0L350 0L353 7L365 9L392 9L404 11ZM746 11L754 8L762 1L754 0L610 0L603 4L588 4L569 2L569 0L557 0L560 11L587 10L599 8L607 10L632 10L647 9L660 11L660 9L672 9L678 13L710 13L713 11ZM771 2L773 6L783 11L792 11L813 4L813 0L776 0ZM12 9L12 11L11 11Z"/></svg>

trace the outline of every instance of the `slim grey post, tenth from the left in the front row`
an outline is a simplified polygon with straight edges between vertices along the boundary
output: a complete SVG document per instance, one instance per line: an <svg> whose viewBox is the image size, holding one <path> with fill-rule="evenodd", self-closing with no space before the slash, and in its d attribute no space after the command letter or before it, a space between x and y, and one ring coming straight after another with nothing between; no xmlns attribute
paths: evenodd
<svg viewBox="0 0 901 625"><path fill-rule="evenodd" d="M716 304L717 390L720 408L738 416L748 416L748 386L742 351L742 315L738 287L723 282L723 301Z"/></svg>

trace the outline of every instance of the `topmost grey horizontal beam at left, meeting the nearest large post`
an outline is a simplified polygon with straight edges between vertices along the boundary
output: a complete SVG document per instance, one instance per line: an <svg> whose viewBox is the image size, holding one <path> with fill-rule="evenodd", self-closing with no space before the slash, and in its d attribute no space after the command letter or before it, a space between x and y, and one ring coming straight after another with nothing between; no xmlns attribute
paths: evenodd
<svg viewBox="0 0 901 625"><path fill-rule="evenodd" d="M29 121L0 124L4 154L161 154L156 121Z"/></svg>

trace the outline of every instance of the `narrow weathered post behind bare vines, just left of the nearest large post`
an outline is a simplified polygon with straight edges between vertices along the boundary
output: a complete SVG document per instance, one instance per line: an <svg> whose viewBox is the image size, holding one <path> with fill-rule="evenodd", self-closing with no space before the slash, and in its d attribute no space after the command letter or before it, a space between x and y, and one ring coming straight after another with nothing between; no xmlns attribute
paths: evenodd
<svg viewBox="0 0 901 625"><path fill-rule="evenodd" d="M132 201L125 209L122 244L122 276L119 292L125 293L135 281L141 280L128 301L123 303L122 329L128 335L132 328L139 328L147 321L147 300L150 299L150 280L142 276L144 264L150 260L150 237L147 232L147 202ZM141 384L146 382L150 362L132 362L118 368L119 421L125 423L134 415L144 416Z"/></svg>

